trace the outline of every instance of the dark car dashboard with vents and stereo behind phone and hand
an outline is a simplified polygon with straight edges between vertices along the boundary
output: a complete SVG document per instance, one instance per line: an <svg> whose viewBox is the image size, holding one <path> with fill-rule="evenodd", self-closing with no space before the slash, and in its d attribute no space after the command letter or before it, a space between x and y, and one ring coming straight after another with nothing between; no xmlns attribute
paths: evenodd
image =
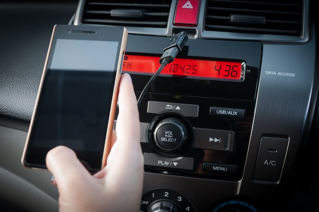
<svg viewBox="0 0 319 212"><path fill-rule="evenodd" d="M137 98L188 37L139 104L140 212L319 211L317 17L312 0L0 1L0 210L59 211L51 173L21 155L64 24L127 29Z"/></svg>

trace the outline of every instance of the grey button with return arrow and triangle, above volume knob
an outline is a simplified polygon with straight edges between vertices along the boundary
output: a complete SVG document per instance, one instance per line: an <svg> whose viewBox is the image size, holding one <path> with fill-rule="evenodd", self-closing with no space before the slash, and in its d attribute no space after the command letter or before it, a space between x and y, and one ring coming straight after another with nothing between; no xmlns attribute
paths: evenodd
<svg viewBox="0 0 319 212"><path fill-rule="evenodd" d="M199 106L162 101L148 101L147 113L163 114L166 112L179 113L183 116L198 117Z"/></svg>

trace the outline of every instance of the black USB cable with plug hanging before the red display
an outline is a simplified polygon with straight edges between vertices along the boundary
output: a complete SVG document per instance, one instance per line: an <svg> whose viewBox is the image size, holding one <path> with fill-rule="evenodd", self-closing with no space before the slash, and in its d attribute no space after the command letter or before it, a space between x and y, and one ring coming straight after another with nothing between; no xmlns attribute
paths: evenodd
<svg viewBox="0 0 319 212"><path fill-rule="evenodd" d="M161 73L161 71L167 64L173 62L173 60L176 58L178 53L184 47L184 44L186 43L187 40L188 40L188 37L184 31L171 37L170 43L168 44L166 48L164 48L164 53L161 59L159 59L159 63L161 64L161 66L159 66L157 71L153 74L153 76L150 78L150 80L148 81L148 83L146 84L146 86L144 87L144 89L142 90L140 94L140 97L138 99L138 107L140 107L142 99L144 98L151 84L154 82L155 78L159 75L159 73Z"/></svg>

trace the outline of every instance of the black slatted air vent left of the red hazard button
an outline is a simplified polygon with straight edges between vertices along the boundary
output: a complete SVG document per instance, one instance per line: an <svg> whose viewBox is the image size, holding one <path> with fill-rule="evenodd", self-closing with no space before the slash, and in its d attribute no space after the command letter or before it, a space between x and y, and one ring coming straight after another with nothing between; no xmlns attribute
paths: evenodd
<svg viewBox="0 0 319 212"><path fill-rule="evenodd" d="M87 0L82 23L166 28L172 0Z"/></svg>

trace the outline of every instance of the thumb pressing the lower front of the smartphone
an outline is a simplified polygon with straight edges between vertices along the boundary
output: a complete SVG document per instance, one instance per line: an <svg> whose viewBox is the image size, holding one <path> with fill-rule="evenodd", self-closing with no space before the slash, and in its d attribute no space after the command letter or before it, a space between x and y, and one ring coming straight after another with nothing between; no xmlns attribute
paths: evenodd
<svg viewBox="0 0 319 212"><path fill-rule="evenodd" d="M51 149L46 155L46 166L54 176L54 183L60 188L74 186L82 177L90 173L77 159L73 150L65 146Z"/></svg>

